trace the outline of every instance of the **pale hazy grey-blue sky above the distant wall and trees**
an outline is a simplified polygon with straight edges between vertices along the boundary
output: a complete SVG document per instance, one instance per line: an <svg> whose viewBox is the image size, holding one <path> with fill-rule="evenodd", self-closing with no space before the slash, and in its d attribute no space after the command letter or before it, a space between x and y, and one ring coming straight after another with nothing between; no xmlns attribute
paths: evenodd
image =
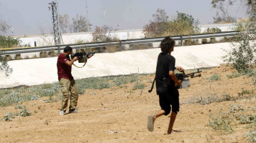
<svg viewBox="0 0 256 143"><path fill-rule="evenodd" d="M56 1L56 0L53 0ZM0 0L0 19L12 26L14 35L50 34L52 13L50 0ZM76 14L86 16L86 0L58 0L58 14L68 14L70 21ZM95 26L112 26L114 29L142 29L152 19L157 9L165 9L168 16L176 11L192 15L199 24L212 24L216 9L211 0L87 0L91 31ZM229 15L246 17L244 7L235 3L225 5ZM7 35L12 35L9 29Z"/></svg>

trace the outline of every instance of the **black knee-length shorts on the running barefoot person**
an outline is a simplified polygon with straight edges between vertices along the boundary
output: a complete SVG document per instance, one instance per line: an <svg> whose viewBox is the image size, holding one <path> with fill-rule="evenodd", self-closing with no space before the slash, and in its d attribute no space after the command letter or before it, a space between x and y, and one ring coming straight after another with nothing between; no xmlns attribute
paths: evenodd
<svg viewBox="0 0 256 143"><path fill-rule="evenodd" d="M165 111L165 116L170 113L171 108L177 114L180 110L178 89L168 89L167 93L159 94L159 103L161 109Z"/></svg>

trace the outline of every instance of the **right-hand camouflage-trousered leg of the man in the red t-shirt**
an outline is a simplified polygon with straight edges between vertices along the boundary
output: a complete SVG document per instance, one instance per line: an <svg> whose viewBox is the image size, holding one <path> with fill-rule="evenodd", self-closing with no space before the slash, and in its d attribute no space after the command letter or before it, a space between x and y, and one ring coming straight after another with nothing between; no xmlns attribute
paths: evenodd
<svg viewBox="0 0 256 143"><path fill-rule="evenodd" d="M78 104L78 89L76 87L76 82L75 80L71 81L70 84L70 107L69 111L73 112L76 109L76 105Z"/></svg>

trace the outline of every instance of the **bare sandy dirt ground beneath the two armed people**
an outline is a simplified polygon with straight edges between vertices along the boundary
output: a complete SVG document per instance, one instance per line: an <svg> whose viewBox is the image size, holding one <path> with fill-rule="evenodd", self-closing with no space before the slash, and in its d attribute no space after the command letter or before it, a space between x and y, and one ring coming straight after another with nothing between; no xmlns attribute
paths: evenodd
<svg viewBox="0 0 256 143"><path fill-rule="evenodd" d="M90 89L78 98L80 113L60 116L60 101L45 103L44 98L21 103L32 116L16 117L12 122L0 122L0 142L249 142L247 124L233 125L231 134L221 134L209 126L209 114L227 113L234 104L241 106L244 114L255 114L255 93L251 98L211 104L193 103L195 97L238 97L242 89L255 90L252 77L228 79L234 69L227 66L203 69L202 77L190 79L191 87L179 89L180 112L174 129L180 132L165 135L170 117L156 120L154 132L147 130L147 116L155 114L160 106L155 88L147 91L155 77L143 77L145 89L132 90L134 83L110 89ZM221 79L209 82L213 74ZM92 94L95 93L95 94ZM47 97L45 97L47 98ZM1 118L6 112L15 112L15 105L1 107Z"/></svg>

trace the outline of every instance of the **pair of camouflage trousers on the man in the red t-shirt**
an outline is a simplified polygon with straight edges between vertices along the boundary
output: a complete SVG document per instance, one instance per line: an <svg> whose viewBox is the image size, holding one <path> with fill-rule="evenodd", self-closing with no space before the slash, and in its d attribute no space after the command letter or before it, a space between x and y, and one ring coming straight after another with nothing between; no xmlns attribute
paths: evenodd
<svg viewBox="0 0 256 143"><path fill-rule="evenodd" d="M76 109L78 104L78 89L75 80L60 79L61 92L63 92L63 99L60 110L66 111L68 107L68 97L70 93L70 107L69 109Z"/></svg>

